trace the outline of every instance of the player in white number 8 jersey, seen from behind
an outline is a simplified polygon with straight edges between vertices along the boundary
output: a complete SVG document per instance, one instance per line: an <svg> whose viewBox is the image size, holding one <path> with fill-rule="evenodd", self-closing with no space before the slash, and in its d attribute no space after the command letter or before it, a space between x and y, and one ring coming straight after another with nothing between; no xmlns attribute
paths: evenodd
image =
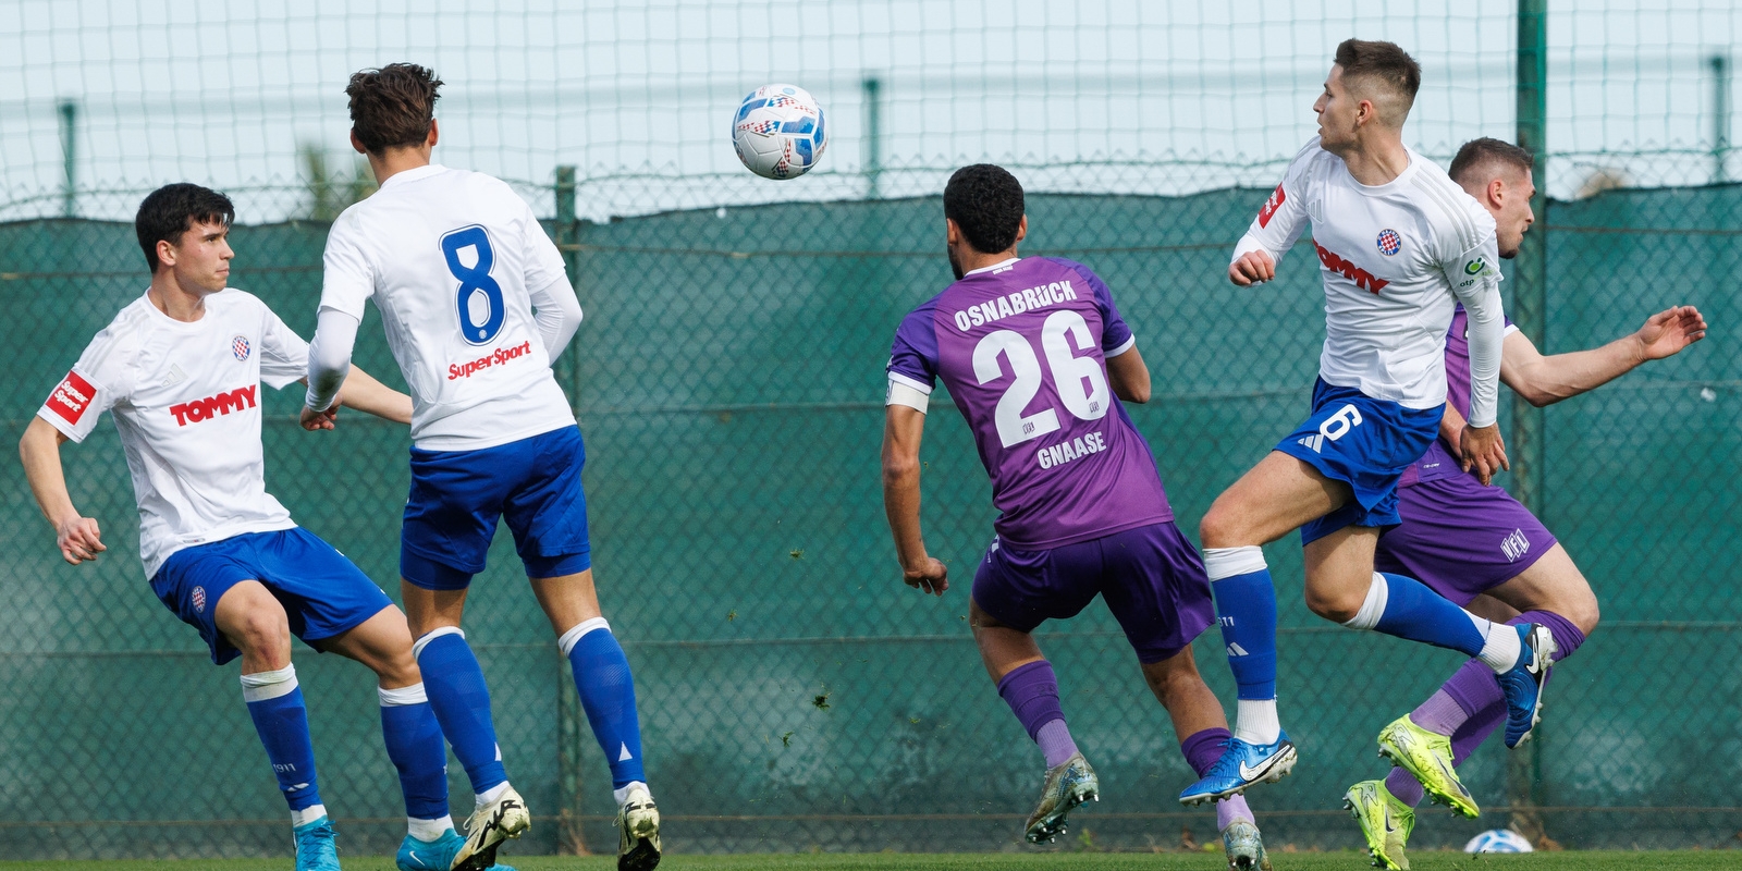
<svg viewBox="0 0 1742 871"><path fill-rule="evenodd" d="M484 672L460 618L500 517L509 530L611 768L622 869L660 859L658 808L641 766L629 660L599 613L587 542L585 460L550 361L580 324L563 256L502 181L430 164L430 70L395 63L350 77L350 143L380 190L345 209L326 247L303 420L331 415L364 305L411 388L411 496L399 571L430 704L472 780L477 810L456 871L490 866L531 826L509 784ZM535 314L537 310L537 314Z"/></svg>

